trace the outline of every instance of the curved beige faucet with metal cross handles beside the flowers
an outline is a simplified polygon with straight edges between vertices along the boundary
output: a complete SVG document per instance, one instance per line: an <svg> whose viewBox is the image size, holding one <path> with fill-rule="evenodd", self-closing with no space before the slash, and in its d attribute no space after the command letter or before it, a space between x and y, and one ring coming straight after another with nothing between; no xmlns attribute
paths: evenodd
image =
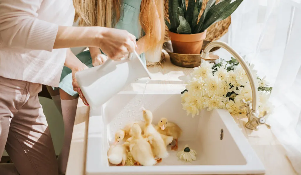
<svg viewBox="0 0 301 175"><path fill-rule="evenodd" d="M235 51L233 50L227 43L222 41L212 41L211 43L207 44L205 49L202 51L200 57L201 59L207 59L209 57L209 51L214 47L222 47L225 50L227 50L229 53L231 53L232 56L239 62L239 64L242 66L244 71L247 74L247 77L250 81L251 89L252 89L252 99L253 101L245 101L242 100L241 103L244 104L243 106L240 106L239 109L242 110L246 108L247 111L247 118L248 121L245 125L246 128L251 130L258 130L259 125L265 124L267 128L271 128L270 125L265 123L264 116L267 114L264 113L263 116L259 117L259 110L258 110L258 96L257 96L257 88L255 86L255 79L256 77L253 77L251 70L247 63L244 61L244 59Z"/></svg>

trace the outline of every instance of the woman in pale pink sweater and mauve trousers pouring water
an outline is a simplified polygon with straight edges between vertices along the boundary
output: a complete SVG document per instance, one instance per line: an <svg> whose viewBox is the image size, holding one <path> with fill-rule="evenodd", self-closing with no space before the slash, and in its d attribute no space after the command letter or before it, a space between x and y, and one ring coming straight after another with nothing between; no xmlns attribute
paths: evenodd
<svg viewBox="0 0 301 175"><path fill-rule="evenodd" d="M83 70L70 47L99 47L112 59L135 50L135 36L104 27L72 27L72 0L0 0L0 174L57 175L42 84L58 87L63 66ZM65 48L65 49L64 49ZM73 78L73 89L81 93ZM81 97L85 100L84 97Z"/></svg>

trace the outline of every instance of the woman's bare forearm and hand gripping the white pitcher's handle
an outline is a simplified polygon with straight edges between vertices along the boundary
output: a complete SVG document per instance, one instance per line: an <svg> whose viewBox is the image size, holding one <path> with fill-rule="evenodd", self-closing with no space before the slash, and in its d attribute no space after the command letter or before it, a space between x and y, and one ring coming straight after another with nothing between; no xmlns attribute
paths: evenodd
<svg viewBox="0 0 301 175"><path fill-rule="evenodd" d="M110 59L120 59L137 48L136 37L126 30L107 27L59 26L54 49L66 47L98 47Z"/></svg>

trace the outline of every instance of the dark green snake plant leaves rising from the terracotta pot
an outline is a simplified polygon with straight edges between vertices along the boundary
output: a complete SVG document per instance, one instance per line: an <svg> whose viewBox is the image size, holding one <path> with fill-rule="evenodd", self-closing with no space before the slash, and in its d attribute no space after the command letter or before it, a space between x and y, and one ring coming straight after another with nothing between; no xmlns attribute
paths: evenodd
<svg viewBox="0 0 301 175"><path fill-rule="evenodd" d="M186 8L185 0L169 0L169 21L165 23L169 31L178 34L196 34L204 32L212 24L226 19L243 0L209 0L198 21L203 0L189 0Z"/></svg>

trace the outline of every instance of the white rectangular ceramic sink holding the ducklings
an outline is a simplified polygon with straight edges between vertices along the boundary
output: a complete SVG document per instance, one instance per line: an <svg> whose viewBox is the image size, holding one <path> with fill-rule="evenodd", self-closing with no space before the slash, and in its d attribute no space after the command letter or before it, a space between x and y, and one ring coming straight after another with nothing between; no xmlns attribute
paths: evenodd
<svg viewBox="0 0 301 175"><path fill-rule="evenodd" d="M182 110L181 94L122 92L97 110L90 110L86 174L261 174L265 168L226 110L203 110L194 118ZM142 99L142 102L141 102ZM143 104L141 104L143 103ZM197 160L186 162L169 149L155 166L110 166L109 143L128 122L143 120L141 106L153 113L153 124L165 117L183 130L179 149L188 144ZM223 134L221 134L223 133ZM222 136L221 136L222 135Z"/></svg>

